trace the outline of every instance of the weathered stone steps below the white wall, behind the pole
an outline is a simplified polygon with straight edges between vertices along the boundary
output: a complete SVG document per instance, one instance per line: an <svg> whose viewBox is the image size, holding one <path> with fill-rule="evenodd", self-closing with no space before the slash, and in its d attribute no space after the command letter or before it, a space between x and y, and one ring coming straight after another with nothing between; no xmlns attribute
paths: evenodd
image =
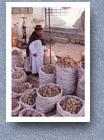
<svg viewBox="0 0 104 140"><path fill-rule="evenodd" d="M54 43L80 43L85 44L84 31L76 28L58 28L51 27L50 30L51 41ZM45 28L42 37L49 41L49 28Z"/></svg>

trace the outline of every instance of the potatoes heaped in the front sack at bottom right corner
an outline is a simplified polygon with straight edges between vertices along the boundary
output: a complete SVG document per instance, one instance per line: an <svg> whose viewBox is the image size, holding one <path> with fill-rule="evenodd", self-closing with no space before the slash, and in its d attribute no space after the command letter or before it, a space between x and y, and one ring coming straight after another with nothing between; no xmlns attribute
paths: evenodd
<svg viewBox="0 0 104 140"><path fill-rule="evenodd" d="M60 106L63 110L71 114L77 114L82 108L82 103L74 97L67 97L65 100L60 102Z"/></svg>

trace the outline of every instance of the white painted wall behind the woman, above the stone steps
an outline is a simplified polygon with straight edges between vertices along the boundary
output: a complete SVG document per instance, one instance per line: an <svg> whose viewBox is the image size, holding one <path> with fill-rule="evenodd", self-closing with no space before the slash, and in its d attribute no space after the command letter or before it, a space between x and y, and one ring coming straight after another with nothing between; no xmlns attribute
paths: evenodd
<svg viewBox="0 0 104 140"><path fill-rule="evenodd" d="M76 27L81 28L82 26L82 18L81 14L84 11L84 8L71 8L68 11L68 15L63 16L51 16L51 26L55 27ZM41 24L43 27L45 26L45 8L34 8L33 14L13 14L12 15L12 31L13 36L21 37L22 35L22 18L26 17L26 26L27 26L27 36L34 31L36 24ZM18 23L18 24L17 24ZM18 26L18 30L16 29L16 24Z"/></svg>

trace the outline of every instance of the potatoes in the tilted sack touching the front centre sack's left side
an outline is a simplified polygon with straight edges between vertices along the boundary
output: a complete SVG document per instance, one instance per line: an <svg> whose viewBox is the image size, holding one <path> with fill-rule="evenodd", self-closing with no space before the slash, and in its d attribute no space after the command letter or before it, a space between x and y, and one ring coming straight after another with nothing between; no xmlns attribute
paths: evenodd
<svg viewBox="0 0 104 140"><path fill-rule="evenodd" d="M36 91L36 89L34 89L33 91L30 91L29 93L25 94L25 95L22 97L21 100L22 100L22 102L24 102L25 104L33 105L33 104L35 104L36 96L37 96L37 91Z"/></svg>

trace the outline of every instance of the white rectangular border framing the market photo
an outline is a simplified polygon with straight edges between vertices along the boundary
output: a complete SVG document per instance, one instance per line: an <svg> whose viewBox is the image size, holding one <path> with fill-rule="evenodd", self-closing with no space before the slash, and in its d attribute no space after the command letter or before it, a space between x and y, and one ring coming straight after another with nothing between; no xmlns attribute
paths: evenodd
<svg viewBox="0 0 104 140"><path fill-rule="evenodd" d="M85 7L85 116L12 117L11 116L11 8ZM90 122L90 2L6 2L6 122Z"/></svg>

